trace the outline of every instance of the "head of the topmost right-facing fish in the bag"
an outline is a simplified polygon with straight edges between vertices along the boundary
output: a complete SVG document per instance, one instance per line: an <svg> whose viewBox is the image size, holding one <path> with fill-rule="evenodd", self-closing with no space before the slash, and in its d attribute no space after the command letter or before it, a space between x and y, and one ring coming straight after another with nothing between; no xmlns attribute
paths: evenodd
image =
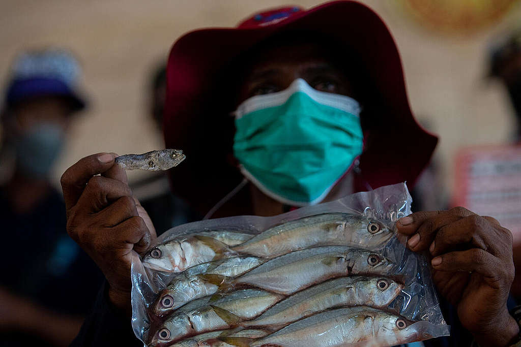
<svg viewBox="0 0 521 347"><path fill-rule="evenodd" d="M353 245L371 249L383 246L394 234L385 224L364 216L349 216L345 222L344 238Z"/></svg>

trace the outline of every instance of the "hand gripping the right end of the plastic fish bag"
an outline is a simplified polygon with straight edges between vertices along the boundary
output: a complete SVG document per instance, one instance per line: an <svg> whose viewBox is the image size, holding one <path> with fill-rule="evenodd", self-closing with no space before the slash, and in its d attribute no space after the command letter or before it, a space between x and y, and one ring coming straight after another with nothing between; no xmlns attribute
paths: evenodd
<svg viewBox="0 0 521 347"><path fill-rule="evenodd" d="M512 233L464 208L416 212L396 223L407 247L432 255L438 292L481 347L508 346L519 328L506 301L514 278Z"/></svg>

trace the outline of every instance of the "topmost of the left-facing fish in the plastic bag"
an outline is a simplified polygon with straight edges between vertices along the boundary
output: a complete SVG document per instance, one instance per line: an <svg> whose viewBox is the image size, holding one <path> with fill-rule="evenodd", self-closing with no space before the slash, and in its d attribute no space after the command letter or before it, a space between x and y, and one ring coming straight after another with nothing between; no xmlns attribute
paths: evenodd
<svg viewBox="0 0 521 347"><path fill-rule="evenodd" d="M191 233L157 245L143 257L143 265L158 271L181 272L189 267L232 256L229 246L239 245L251 234L230 230Z"/></svg>

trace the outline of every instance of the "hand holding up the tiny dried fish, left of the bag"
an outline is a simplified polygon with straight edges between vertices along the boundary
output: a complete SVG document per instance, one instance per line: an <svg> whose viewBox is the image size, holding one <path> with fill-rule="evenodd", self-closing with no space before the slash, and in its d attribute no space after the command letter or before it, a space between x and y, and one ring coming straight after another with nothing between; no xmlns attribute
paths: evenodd
<svg viewBox="0 0 521 347"><path fill-rule="evenodd" d="M130 315L130 265L156 237L148 214L132 198L127 174L114 153L97 153L61 176L67 233L107 279L110 301ZM101 174L100 176L97 176Z"/></svg>

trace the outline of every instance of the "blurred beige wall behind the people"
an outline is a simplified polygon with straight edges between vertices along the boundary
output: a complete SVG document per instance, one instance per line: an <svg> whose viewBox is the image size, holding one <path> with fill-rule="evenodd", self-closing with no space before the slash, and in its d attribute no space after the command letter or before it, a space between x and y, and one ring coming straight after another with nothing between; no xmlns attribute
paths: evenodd
<svg viewBox="0 0 521 347"><path fill-rule="evenodd" d="M387 0L363 1L388 23L402 55L411 104L441 136L437 150L445 186L452 184L453 156L461 146L505 142L512 109L495 83L483 81L485 49L492 34L515 24L516 7L501 23L472 36L449 37L416 25ZM144 152L161 140L145 119L147 73L181 34L230 26L282 0L0 0L0 80L24 48L60 45L81 59L84 89L92 101L72 129L58 177L68 165L98 151ZM291 1L304 7L318 1ZM399 148L396 149L399 151ZM139 175L139 174L138 174ZM136 179L136 174L131 179Z"/></svg>

